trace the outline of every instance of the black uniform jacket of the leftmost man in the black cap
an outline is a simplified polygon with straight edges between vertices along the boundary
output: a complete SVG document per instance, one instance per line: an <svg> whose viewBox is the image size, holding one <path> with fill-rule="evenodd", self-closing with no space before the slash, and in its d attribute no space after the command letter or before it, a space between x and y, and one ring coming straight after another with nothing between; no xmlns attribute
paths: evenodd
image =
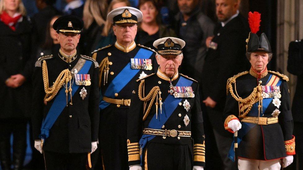
<svg viewBox="0 0 303 170"><path fill-rule="evenodd" d="M42 57L36 62L36 68L33 75L33 138L38 140L40 128L43 118L47 116L53 101L47 102L44 105L43 99L45 96L42 74L42 60L46 61L49 84L56 81L60 72L65 69L71 70L79 58L92 61L92 65L87 74L90 75L91 85L80 85L74 96L72 97L73 104L66 106L60 116L52 126L49 132L49 137L46 139L43 149L59 153L84 153L91 151L91 142L96 142L98 137L99 125L99 74L98 64L90 57L77 54L75 60L66 63L58 54L53 57ZM49 58L49 59L47 59ZM74 81L73 86L76 83ZM80 97L80 91L83 87L87 90L87 96L84 100ZM64 88L63 86L61 89ZM58 94L57 94L58 95ZM69 96L69 94L68 94ZM65 98L65 96L64 96ZM70 99L70 96L69 96Z"/></svg>

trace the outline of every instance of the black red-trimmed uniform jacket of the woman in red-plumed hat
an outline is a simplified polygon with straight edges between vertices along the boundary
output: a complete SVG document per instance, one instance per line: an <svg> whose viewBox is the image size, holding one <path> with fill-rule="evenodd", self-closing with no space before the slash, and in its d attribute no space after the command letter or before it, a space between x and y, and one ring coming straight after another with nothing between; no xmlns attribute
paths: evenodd
<svg viewBox="0 0 303 170"><path fill-rule="evenodd" d="M238 96L243 99L248 97L260 80L262 81L261 85L266 85L270 74L272 73L268 73L267 75L264 74L266 76L260 79L257 79L251 74L238 77L236 79ZM280 78L282 79L282 77ZM233 91L234 94L236 94L234 87ZM284 80L280 85L280 91L282 97L279 98L281 106L278 110L281 111L281 113L278 115L278 123L268 125L255 124L256 126L248 131L248 133L242 138L241 143L238 145L237 155L239 157L270 160L286 156L284 141L292 139L293 120L292 112L290 110L288 85ZM273 104L273 101L271 101L267 109L264 111L263 117L273 117L271 114L276 108L277 107ZM230 115L235 115L237 117L239 115L239 103L231 96L230 93L227 95L224 114L225 118ZM240 129L238 133L240 133L243 128L244 126L242 122L242 129Z"/></svg>

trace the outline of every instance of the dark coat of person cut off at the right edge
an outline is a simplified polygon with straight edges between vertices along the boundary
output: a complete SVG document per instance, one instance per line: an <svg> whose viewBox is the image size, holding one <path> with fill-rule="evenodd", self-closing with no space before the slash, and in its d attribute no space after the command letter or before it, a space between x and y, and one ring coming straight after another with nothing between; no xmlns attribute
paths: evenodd
<svg viewBox="0 0 303 170"><path fill-rule="evenodd" d="M296 93L292 101L295 122L303 122L303 41L292 41L288 48L287 71L298 76Z"/></svg>

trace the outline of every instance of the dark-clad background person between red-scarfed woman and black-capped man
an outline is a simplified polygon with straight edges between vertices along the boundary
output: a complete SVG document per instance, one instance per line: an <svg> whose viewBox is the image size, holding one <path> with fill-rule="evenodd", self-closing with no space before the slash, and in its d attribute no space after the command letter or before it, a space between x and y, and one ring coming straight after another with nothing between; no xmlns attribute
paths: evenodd
<svg viewBox="0 0 303 170"><path fill-rule="evenodd" d="M39 10L32 17L34 24L37 46L41 46L45 42L45 32L47 31L47 24L51 18L61 13L53 7L56 0L36 0L36 6Z"/></svg>

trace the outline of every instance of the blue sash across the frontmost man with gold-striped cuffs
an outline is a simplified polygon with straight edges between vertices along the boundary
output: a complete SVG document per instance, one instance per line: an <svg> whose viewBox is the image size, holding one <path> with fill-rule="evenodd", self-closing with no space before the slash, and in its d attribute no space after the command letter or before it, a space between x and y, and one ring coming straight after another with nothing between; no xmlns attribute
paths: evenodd
<svg viewBox="0 0 303 170"><path fill-rule="evenodd" d="M177 82L176 86L191 86L192 81L180 76L179 81ZM162 114L158 114L158 119L156 119L156 114L152 117L152 120L149 122L148 127L150 129L161 129L161 127L165 124L165 122L169 119L170 115L173 114L174 110L179 105L179 102L182 101L182 98L175 98L173 95L168 95L165 101L162 104ZM158 108L160 113L160 108ZM152 140L155 135L142 135L139 144L142 150L144 149L146 143ZM141 165L142 165L142 155L141 158Z"/></svg>

